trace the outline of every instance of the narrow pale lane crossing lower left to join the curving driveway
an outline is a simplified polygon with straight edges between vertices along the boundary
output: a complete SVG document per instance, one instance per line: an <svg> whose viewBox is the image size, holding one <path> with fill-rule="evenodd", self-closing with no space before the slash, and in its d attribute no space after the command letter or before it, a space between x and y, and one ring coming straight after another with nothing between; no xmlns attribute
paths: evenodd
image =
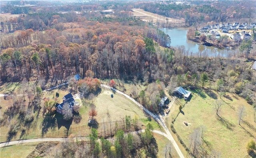
<svg viewBox="0 0 256 158"><path fill-rule="evenodd" d="M132 134L136 134L136 133L141 133L141 132L145 132L145 130L139 130L139 131L134 131L131 132ZM165 136L166 138L168 138L168 135L165 134L162 131L159 130L152 130L152 132L160 134L162 136ZM79 137L79 138L40 138L40 139L27 139L27 140L17 140L17 141L11 141L11 142L2 142L0 143L0 148L4 147L4 146L11 146L14 144L20 144L20 143L29 143L29 142L52 142L52 141L58 141L58 142L63 142L66 140L86 140L88 139L88 137Z"/></svg>

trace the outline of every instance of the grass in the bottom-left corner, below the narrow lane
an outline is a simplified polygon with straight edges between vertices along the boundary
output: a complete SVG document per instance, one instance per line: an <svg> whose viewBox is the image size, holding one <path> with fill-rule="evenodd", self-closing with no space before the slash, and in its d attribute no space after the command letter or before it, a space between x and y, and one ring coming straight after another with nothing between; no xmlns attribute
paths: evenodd
<svg viewBox="0 0 256 158"><path fill-rule="evenodd" d="M34 142L2 147L0 148L0 157L25 158L36 148L37 144L38 142Z"/></svg>

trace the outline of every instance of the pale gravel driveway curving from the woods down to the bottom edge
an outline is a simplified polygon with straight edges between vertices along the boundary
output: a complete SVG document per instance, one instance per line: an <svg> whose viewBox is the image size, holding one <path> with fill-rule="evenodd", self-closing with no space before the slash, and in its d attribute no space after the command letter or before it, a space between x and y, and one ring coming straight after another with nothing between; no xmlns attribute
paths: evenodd
<svg viewBox="0 0 256 158"><path fill-rule="evenodd" d="M133 101L136 105L138 105L138 107L140 107L145 113L147 113L148 115L150 115L151 117L153 117L165 130L166 134L167 134L167 138L172 142L172 145L174 146L174 148L176 149L178 155L180 156L180 158L184 158L184 155L182 154L178 144L176 143L176 141L174 140L172 134L170 133L169 129L167 128L167 126L164 123L164 120L162 118L160 118L159 116L151 113L150 111L148 111L148 109L146 109L145 107L143 107L140 103L138 103L137 101L135 101L132 97L130 97L129 95L118 91L117 89L113 89L112 87L108 86L108 85L104 85L101 84L102 87L105 87L107 89L111 89L112 91L114 90L116 93L120 93L121 95L125 96L126 98L130 99L131 101Z"/></svg>

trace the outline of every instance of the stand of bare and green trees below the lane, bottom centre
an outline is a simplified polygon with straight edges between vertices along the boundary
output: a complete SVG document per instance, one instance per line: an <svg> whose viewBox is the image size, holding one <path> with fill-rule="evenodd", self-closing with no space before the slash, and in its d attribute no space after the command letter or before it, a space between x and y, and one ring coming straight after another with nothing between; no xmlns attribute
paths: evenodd
<svg viewBox="0 0 256 158"><path fill-rule="evenodd" d="M148 123L142 133L125 133L119 129L114 138L99 139L98 131L91 128L88 140L63 142L59 147L61 150L54 151L54 157L129 158L144 155L156 158L158 147L150 131L152 129L152 125Z"/></svg>

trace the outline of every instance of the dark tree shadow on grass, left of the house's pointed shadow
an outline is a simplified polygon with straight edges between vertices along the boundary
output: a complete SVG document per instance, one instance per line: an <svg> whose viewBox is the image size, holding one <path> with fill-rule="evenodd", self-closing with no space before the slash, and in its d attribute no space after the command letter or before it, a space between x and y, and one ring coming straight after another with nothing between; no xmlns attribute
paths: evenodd
<svg viewBox="0 0 256 158"><path fill-rule="evenodd" d="M42 136L44 136L44 134L48 132L49 128L54 130L56 128L56 125L56 118L53 115L45 116L42 122Z"/></svg>

